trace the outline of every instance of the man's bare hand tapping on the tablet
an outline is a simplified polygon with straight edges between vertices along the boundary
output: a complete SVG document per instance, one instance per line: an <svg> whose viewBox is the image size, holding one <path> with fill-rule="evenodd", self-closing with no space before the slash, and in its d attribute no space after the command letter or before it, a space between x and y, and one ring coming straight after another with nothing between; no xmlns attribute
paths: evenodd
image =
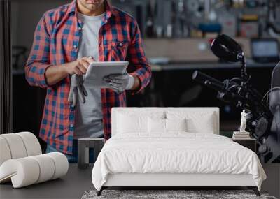
<svg viewBox="0 0 280 199"><path fill-rule="evenodd" d="M87 72L88 66L92 63L94 59L92 57L82 57L76 61L64 64L65 70L68 74L73 75L83 75Z"/></svg>

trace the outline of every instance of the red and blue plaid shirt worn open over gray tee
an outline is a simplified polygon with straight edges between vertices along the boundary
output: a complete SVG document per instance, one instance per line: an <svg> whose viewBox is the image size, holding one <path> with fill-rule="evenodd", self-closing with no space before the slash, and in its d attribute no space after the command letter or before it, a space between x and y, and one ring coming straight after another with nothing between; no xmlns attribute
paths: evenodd
<svg viewBox="0 0 280 199"><path fill-rule="evenodd" d="M141 91L151 80L151 67L142 47L136 20L105 1L106 13L99 31L99 61L129 61L127 71L137 76ZM75 108L69 101L69 77L52 86L45 80L45 70L75 61L83 23L78 20L76 1L49 10L36 27L34 42L25 66L27 82L47 89L40 138L66 154L72 154ZM111 137L111 108L126 106L125 92L117 94L101 89L104 138Z"/></svg>

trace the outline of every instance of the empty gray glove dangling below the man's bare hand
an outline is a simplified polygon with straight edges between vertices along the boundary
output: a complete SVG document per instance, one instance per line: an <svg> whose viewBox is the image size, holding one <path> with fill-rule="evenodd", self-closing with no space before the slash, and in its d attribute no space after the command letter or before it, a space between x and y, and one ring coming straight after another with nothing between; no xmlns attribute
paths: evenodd
<svg viewBox="0 0 280 199"><path fill-rule="evenodd" d="M70 92L68 96L69 103L75 106L78 98L80 98L82 103L85 103L85 96L87 96L87 91L83 85L83 75L73 74L71 77Z"/></svg>

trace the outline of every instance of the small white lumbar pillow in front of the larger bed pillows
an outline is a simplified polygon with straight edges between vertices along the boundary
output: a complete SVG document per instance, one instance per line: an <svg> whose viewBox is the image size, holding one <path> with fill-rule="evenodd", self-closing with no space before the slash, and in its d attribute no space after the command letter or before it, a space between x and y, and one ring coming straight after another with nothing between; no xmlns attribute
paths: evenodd
<svg viewBox="0 0 280 199"><path fill-rule="evenodd" d="M167 133L169 131L186 131L186 118L183 119L161 119L148 118L148 132Z"/></svg>

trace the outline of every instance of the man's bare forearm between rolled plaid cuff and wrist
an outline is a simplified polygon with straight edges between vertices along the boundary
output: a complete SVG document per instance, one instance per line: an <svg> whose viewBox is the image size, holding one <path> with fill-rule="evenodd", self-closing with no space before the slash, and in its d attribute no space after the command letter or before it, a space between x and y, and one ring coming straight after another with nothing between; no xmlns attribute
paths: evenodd
<svg viewBox="0 0 280 199"><path fill-rule="evenodd" d="M69 73L66 70L66 64L59 66L50 66L45 71L45 80L48 85L52 86L67 77Z"/></svg>

